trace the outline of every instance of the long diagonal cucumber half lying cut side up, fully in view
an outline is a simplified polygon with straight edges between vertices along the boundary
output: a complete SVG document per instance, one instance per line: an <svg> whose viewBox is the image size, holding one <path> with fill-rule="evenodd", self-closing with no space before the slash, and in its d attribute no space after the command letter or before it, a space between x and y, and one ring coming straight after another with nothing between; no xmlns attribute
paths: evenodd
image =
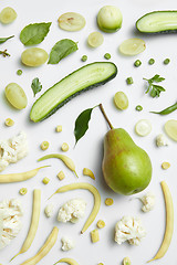
<svg viewBox="0 0 177 265"><path fill-rule="evenodd" d="M81 92L104 85L117 74L117 67L110 62L87 64L50 87L32 106L30 118L41 121Z"/></svg>

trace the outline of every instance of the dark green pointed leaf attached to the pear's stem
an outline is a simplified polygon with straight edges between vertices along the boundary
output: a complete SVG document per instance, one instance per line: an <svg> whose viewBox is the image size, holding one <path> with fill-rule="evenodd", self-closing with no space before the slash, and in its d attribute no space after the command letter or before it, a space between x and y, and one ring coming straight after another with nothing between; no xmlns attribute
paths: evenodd
<svg viewBox="0 0 177 265"><path fill-rule="evenodd" d="M82 112L75 120L74 136L75 145L85 135L88 129L88 121L91 119L93 108L87 108Z"/></svg>

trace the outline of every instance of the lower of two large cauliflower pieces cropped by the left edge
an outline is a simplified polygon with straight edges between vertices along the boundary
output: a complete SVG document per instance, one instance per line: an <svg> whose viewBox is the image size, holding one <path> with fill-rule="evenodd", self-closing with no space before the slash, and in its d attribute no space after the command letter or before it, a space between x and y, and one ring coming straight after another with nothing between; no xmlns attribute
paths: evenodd
<svg viewBox="0 0 177 265"><path fill-rule="evenodd" d="M18 199L0 202L0 248L9 245L21 230L23 215L21 202Z"/></svg>

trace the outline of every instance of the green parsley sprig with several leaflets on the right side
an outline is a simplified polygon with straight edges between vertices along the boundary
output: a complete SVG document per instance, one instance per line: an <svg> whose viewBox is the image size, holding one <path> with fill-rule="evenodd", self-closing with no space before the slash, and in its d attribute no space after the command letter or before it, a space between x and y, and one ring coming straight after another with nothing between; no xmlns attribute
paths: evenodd
<svg viewBox="0 0 177 265"><path fill-rule="evenodd" d="M154 84L154 83L160 83L162 81L165 81L165 78L162 77L160 75L156 74L150 80L147 80L147 78L143 78L143 80L148 82L146 94L149 93L152 97L159 97L160 93L165 92L165 88L163 86Z"/></svg>

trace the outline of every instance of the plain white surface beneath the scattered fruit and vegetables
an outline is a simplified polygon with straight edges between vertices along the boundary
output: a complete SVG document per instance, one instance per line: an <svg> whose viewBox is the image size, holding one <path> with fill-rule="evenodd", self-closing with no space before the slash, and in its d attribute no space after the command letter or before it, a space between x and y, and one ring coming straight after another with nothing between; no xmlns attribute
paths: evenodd
<svg viewBox="0 0 177 265"><path fill-rule="evenodd" d="M96 25L96 14L105 4L114 4L119 7L123 13L123 26L116 33L103 33L103 45L92 50L86 45L86 38L91 32L98 30ZM104 265L117 265L122 263L122 259L125 256L131 257L132 264L146 264L146 262L156 254L163 241L165 231L165 204L159 184L162 180L166 180L167 184L169 186L174 199L175 212L177 206L176 142L169 139L169 146L163 148L157 148L155 145L155 137L159 132L163 132L164 125L168 119L176 118L176 113L164 117L149 114L149 110L162 110L163 108L174 104L177 98L177 36L176 34L138 34L135 30L135 22L139 17L149 11L175 10L177 8L176 1L0 1L0 10L8 6L14 8L18 13L18 18L12 24L0 24L0 38L12 34L15 35L14 39L9 40L7 43L0 45L0 50L8 49L8 52L11 54L10 57L0 57L0 138L4 139L12 137L20 130L24 130L28 135L30 148L28 157L19 161L17 165L9 166L4 170L4 173L22 172L42 165L51 165L52 167L41 170L37 177L27 182L0 186L0 201L3 199L19 198L22 200L24 206L23 229L21 230L19 236L13 240L11 245L0 252L0 263L3 265L8 264L10 258L21 248L30 225L32 192L34 188L39 188L42 191L42 209L37 236L30 250L25 254L17 257L11 263L12 265L21 264L27 258L33 256L42 246L54 225L58 225L60 229L58 242L49 255L44 257L40 264L53 264L58 259L65 256L75 258L81 265L96 265L98 262L103 262ZM59 28L59 15L69 11L75 11L85 17L86 25L82 31L65 32ZM19 40L20 31L29 23L50 21L52 22L50 32L44 41L38 46L43 47L45 51L48 51L48 53L50 53L51 47L55 42L64 38L69 38L79 42L79 51L61 61L58 65L45 64L34 68L29 68L21 65L20 56L25 47ZM118 45L124 40L133 36L139 36L145 40L146 51L135 57L122 56L118 53ZM59 82L62 77L84 65L84 63L81 62L83 54L87 55L87 63L91 63L94 61L105 61L104 54L106 52L112 54L112 61L118 67L118 74L115 80L102 87L83 93L42 123L32 124L29 120L29 112L31 106L41 94L39 93L35 98L33 97L31 82L34 77L40 78L44 92L46 88ZM152 66L147 63L150 57L156 60L156 63ZM163 64L163 61L166 57L170 59L169 65ZM138 68L133 66L133 63L136 59L139 59L143 63ZM22 68L23 71L21 76L15 74L18 68ZM166 92L162 93L159 98L152 98L148 95L145 95L145 82L143 81L143 77L153 77L155 74L160 74L166 78L166 81L163 83ZM126 77L128 76L133 76L134 78L134 84L131 86L127 86L125 82ZM25 91L28 96L28 107L24 110L15 110L7 103L3 92L6 85L8 85L10 82L17 82ZM117 91L123 91L128 96L129 107L125 112L118 112L113 104L113 96ZM100 103L103 103L114 127L125 128L133 137L135 142L148 152L152 159L153 179L146 191L153 191L156 194L156 206L154 211L149 213L143 213L140 211L142 204L139 200L132 200L134 198L142 197L146 193L146 191L134 197L123 197L115 194L105 186L101 165L103 158L103 138L108 127L98 108L94 109L93 112L92 120L90 123L90 130L86 132L84 138L79 141L76 148L73 148L73 129L76 117L85 108L93 107ZM144 110L140 113L135 110L135 106L138 104L144 107ZM4 119L8 117L15 121L15 125L11 128L7 128L3 125ZM136 121L142 118L149 119L153 126L150 135L144 138L136 136L134 132L134 126ZM54 129L56 125L63 126L63 131L61 134L55 132ZM40 144L43 140L48 140L50 142L50 148L48 151L40 150ZM60 152L63 141L66 141L70 145L67 155L75 161L76 171L80 176L79 180L63 166L61 161L56 159L46 160L40 163L37 162L37 159L44 153ZM171 165L171 167L166 171L160 168L163 161L168 161ZM93 170L96 181L82 176L82 170L84 167ZM63 170L66 174L65 180L62 182L60 182L56 178L56 173L60 170ZM42 179L44 177L49 177L51 179L48 186L42 183ZM75 181L86 181L95 184L102 195L102 205L98 215L96 216L95 222L83 235L80 234L80 231L93 206L93 198L88 192L73 191L64 194L58 194L51 200L55 204L54 216L46 219L43 212L46 205L46 199L55 191L58 187ZM19 189L22 187L28 188L28 194L24 197L19 195ZM59 224L56 221L59 208L66 200L75 197L81 197L87 202L85 219L81 220L77 224ZM105 206L104 204L104 200L107 197L114 199L114 205L110 208ZM142 241L139 246L131 246L126 243L119 246L114 242L114 226L123 215L140 216L143 224L147 230L147 236ZM103 219L105 221L106 227L100 231L101 241L96 244L92 244L90 240L90 231L95 229L95 224L98 219ZM167 254L160 261L154 263L160 265L176 264L176 232L177 231L175 226L173 241ZM61 251L61 237L63 235L70 235L76 242L75 248L69 253L63 253Z"/></svg>

